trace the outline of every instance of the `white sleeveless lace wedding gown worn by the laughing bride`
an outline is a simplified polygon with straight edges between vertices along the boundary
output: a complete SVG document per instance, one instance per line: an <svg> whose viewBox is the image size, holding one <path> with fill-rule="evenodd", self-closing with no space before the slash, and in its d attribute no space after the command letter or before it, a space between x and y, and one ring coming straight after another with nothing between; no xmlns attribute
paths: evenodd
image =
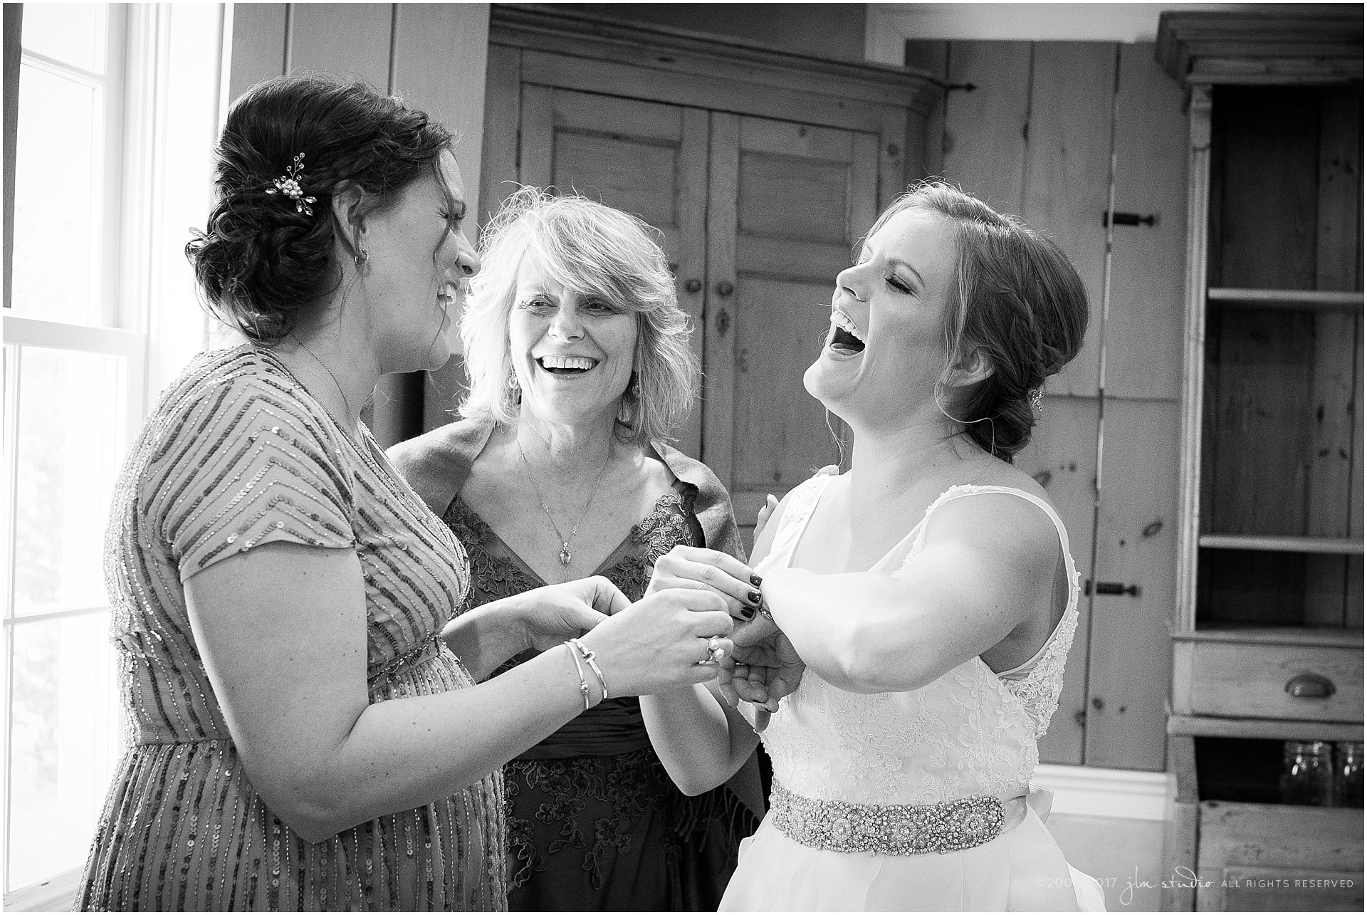
<svg viewBox="0 0 1367 915"><path fill-rule="evenodd" d="M790 563L833 479L823 473L798 487L756 572ZM763 732L774 806L741 845L722 911L1105 908L1100 886L1069 867L1044 827L1047 792L1031 789L1036 741L1058 707L1077 626L1077 570L1058 514L1021 490L956 486L871 572L894 574L921 550L932 512L982 492L1028 499L1058 527L1069 581L1058 626L1020 667L992 673L973 658L910 692L846 692L807 670ZM984 844L905 853L943 841L946 830L971 845L994 825L1002 832ZM904 853L867 851L887 843Z"/></svg>

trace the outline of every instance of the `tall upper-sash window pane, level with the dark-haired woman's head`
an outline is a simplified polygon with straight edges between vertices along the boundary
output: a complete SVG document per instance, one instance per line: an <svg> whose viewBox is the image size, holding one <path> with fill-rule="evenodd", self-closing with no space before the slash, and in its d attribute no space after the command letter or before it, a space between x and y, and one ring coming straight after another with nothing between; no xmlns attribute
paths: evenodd
<svg viewBox="0 0 1367 915"><path fill-rule="evenodd" d="M19 74L11 302L29 317L98 323L98 92L37 67Z"/></svg>

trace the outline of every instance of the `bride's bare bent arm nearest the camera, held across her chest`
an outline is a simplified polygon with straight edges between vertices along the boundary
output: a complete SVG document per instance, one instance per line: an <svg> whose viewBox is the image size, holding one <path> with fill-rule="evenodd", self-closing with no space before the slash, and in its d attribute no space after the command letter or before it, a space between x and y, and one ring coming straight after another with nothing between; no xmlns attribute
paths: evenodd
<svg viewBox="0 0 1367 915"><path fill-rule="evenodd" d="M764 595L823 680L852 692L917 689L1047 611L1058 550L1038 507L977 495L936 510L924 548L893 576L776 569Z"/></svg>

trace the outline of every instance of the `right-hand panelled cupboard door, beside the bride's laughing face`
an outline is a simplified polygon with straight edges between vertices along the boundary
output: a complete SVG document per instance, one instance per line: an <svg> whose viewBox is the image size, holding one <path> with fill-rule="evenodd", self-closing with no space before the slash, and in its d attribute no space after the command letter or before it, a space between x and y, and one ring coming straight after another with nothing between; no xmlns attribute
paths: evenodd
<svg viewBox="0 0 1367 915"><path fill-rule="evenodd" d="M722 112L711 133L703 455L746 524L841 460L802 375L878 215L878 137Z"/></svg>

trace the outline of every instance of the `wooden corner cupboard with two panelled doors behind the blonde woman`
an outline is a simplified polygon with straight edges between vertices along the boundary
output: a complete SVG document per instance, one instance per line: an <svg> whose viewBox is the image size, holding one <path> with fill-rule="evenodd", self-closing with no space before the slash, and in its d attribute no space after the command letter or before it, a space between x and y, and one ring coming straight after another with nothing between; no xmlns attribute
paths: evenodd
<svg viewBox="0 0 1367 915"><path fill-rule="evenodd" d="M554 186L662 231L704 373L679 447L753 525L841 457L802 372L858 237L925 174L940 83L544 7L495 5L488 53L481 209Z"/></svg>

